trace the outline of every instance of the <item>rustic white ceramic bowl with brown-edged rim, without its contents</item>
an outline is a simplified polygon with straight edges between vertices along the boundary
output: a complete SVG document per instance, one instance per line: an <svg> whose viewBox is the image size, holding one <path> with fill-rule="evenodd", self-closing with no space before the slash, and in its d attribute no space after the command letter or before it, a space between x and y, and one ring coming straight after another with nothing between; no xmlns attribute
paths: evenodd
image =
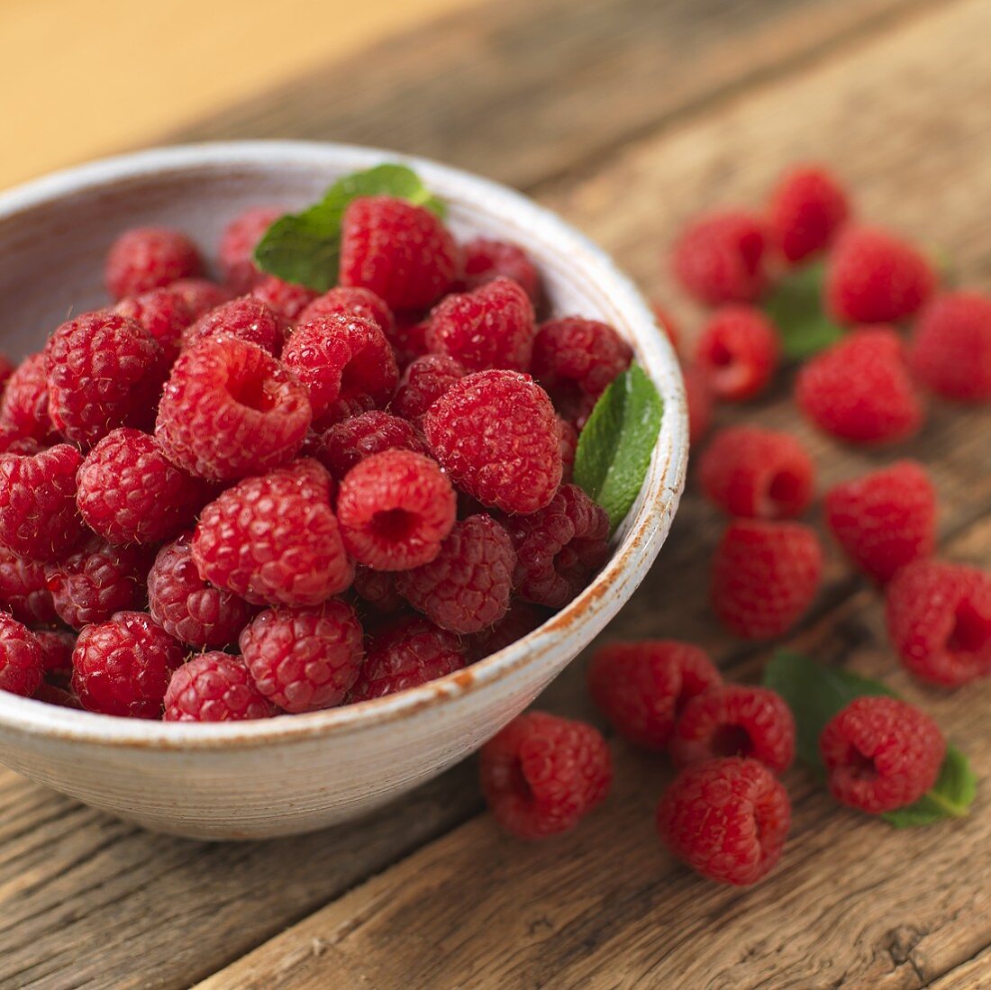
<svg viewBox="0 0 991 990"><path fill-rule="evenodd" d="M414 167L465 238L522 245L557 313L612 324L664 399L660 437L612 560L571 605L474 666L411 691L310 715L188 724L55 708L0 692L0 761L96 808L204 838L256 838L358 817L440 773L522 711L630 597L664 542L685 479L675 355L630 281L556 216L483 178L382 151L246 142L110 159L0 196L0 348L37 350L69 311L104 304L102 260L127 227L165 223L210 250L245 207L298 206L338 176Z"/></svg>

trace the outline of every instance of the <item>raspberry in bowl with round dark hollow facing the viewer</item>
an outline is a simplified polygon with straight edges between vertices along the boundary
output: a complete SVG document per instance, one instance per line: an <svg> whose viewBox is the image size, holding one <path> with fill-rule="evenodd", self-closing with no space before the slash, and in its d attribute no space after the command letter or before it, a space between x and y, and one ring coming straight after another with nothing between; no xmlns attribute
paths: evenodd
<svg viewBox="0 0 991 990"><path fill-rule="evenodd" d="M337 515L348 552L379 571L406 571L440 552L457 498L440 468L422 454L386 450L348 472Z"/></svg>

